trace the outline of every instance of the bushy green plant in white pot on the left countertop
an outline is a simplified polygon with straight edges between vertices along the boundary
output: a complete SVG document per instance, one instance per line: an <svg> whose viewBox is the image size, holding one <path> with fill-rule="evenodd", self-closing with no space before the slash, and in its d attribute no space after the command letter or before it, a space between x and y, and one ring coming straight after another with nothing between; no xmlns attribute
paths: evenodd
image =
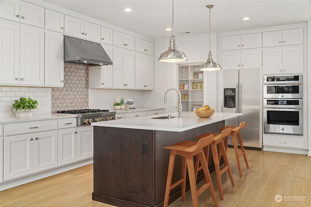
<svg viewBox="0 0 311 207"><path fill-rule="evenodd" d="M14 100L13 109L17 117L31 117L34 112L32 109L37 108L37 106L37 100L20 97L19 100Z"/></svg>

